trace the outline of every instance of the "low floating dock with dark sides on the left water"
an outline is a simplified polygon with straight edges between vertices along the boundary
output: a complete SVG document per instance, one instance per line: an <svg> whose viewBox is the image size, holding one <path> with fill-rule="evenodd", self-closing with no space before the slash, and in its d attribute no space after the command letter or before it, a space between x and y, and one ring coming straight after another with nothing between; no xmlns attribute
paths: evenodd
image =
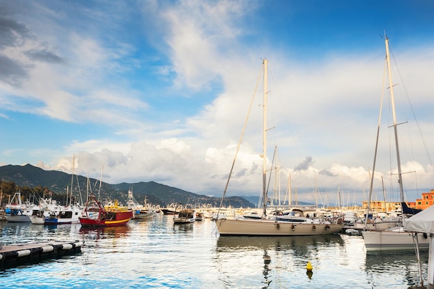
<svg viewBox="0 0 434 289"><path fill-rule="evenodd" d="M49 240L46 243L25 243L1 245L0 267L11 267L21 263L32 263L43 259L57 259L61 256L81 252L83 242Z"/></svg>

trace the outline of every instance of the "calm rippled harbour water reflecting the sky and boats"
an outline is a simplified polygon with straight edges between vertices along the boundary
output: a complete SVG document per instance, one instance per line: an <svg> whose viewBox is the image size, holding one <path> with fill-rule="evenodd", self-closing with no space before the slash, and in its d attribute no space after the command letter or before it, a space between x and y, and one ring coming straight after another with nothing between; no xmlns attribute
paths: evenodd
<svg viewBox="0 0 434 289"><path fill-rule="evenodd" d="M0 229L6 245L85 241L81 254L0 270L0 288L396 289L419 284L414 252L366 254L361 236L223 237L209 219L173 225L171 216L105 229L9 222L0 222ZM421 261L426 278L428 252Z"/></svg>

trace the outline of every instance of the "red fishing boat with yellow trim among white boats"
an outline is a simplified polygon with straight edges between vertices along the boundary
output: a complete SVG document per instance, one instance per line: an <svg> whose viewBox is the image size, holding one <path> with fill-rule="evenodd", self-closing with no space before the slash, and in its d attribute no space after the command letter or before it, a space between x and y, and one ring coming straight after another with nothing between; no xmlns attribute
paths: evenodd
<svg viewBox="0 0 434 289"><path fill-rule="evenodd" d="M132 210L119 206L117 200L114 204L102 206L95 195L89 196L83 216L79 217L82 227L114 227L123 226L132 219Z"/></svg>

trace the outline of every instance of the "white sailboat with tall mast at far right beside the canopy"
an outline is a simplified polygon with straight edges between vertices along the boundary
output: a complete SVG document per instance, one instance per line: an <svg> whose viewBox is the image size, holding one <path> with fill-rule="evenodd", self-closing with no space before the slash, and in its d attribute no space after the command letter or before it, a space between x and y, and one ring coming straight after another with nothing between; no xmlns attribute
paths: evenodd
<svg viewBox="0 0 434 289"><path fill-rule="evenodd" d="M422 236L421 238L417 238L417 233L403 230L402 224L404 222L406 213L408 213L408 208L406 206L406 202L404 202L404 195L403 195L401 160L399 157L399 145L398 145L398 134L397 134L397 118L395 114L394 95L393 95L394 85L392 82L392 74L390 69L389 40L387 36L385 36L385 52L386 52L386 61L388 64L389 88L390 88L390 98L391 98L392 114L393 114L394 142L395 142L395 148L397 152L398 183L399 183L399 193L401 197L402 223L397 227L386 229L384 231L362 231L363 240L365 241L365 248L367 252L415 249L417 244L419 245L419 249L428 249L428 245L429 245L428 238L425 238L424 236ZM378 132L377 132L377 146L378 146ZM375 161L376 161L376 150L375 150L375 157L374 157L374 168L375 168ZM370 198L372 196L373 180L374 180L374 170L372 172L372 177L371 177ZM368 204L369 203L370 200Z"/></svg>

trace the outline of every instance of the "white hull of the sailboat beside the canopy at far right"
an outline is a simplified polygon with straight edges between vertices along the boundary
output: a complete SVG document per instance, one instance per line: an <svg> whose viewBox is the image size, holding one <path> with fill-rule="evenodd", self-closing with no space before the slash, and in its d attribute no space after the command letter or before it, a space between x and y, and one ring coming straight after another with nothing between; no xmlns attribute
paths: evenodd
<svg viewBox="0 0 434 289"><path fill-rule="evenodd" d="M409 231L362 231L366 251L392 251L415 249L416 239ZM429 248L429 239L417 236L419 249Z"/></svg>

